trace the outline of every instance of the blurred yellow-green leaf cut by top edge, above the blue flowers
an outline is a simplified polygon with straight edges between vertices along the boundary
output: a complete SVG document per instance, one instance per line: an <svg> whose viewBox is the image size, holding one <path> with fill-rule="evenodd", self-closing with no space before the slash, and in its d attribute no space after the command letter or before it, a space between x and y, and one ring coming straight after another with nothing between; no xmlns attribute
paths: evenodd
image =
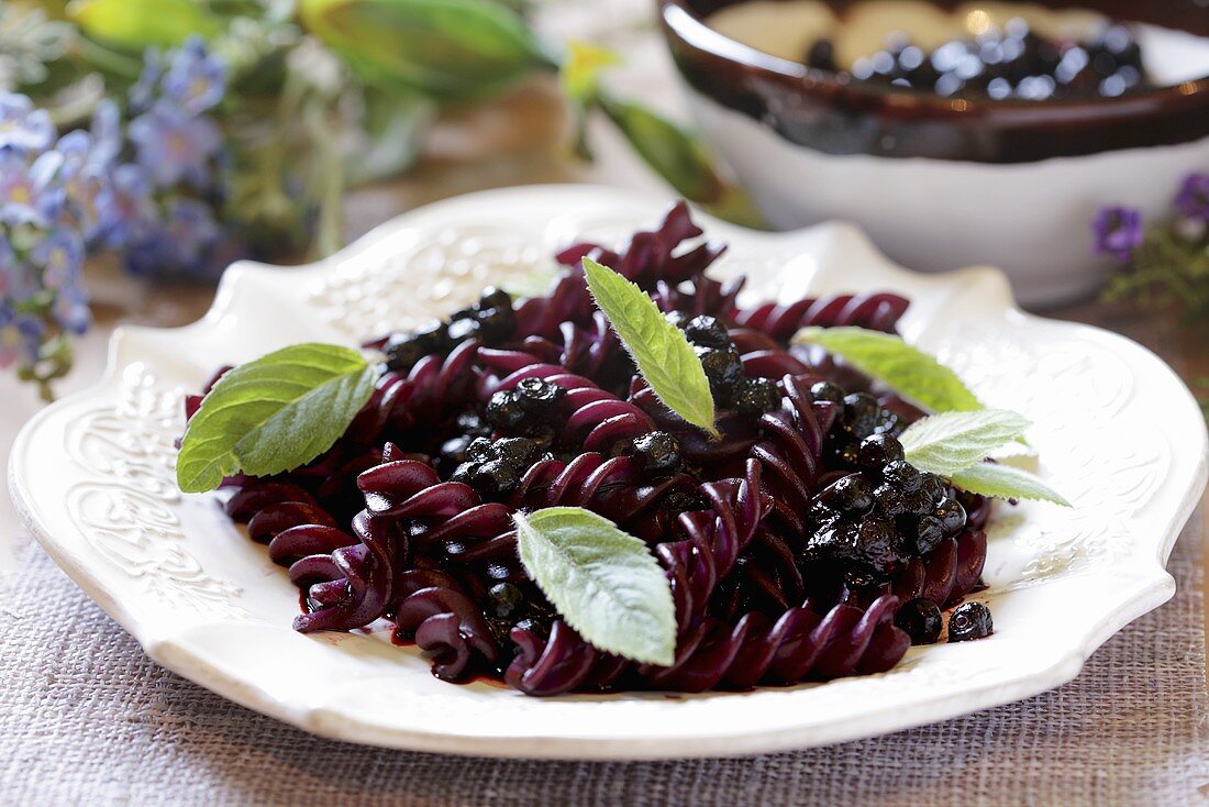
<svg viewBox="0 0 1209 807"><path fill-rule="evenodd" d="M88 36L129 50L173 47L190 34L209 38L218 21L193 0L73 0L68 18Z"/></svg>

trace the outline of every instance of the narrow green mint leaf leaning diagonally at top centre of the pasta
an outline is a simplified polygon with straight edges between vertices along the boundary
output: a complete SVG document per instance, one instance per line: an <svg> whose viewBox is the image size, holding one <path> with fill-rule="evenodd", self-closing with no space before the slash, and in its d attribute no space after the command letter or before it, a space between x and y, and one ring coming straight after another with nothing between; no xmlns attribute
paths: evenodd
<svg viewBox="0 0 1209 807"><path fill-rule="evenodd" d="M659 399L689 423L717 437L710 380L684 332L667 322L646 292L612 269L584 258L584 275L596 305Z"/></svg>

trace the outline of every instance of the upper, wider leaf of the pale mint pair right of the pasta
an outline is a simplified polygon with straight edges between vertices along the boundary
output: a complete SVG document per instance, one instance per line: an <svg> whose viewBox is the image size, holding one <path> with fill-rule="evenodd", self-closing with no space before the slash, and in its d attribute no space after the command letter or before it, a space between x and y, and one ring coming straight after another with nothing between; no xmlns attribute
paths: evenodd
<svg viewBox="0 0 1209 807"><path fill-rule="evenodd" d="M913 466L948 475L982 462L1028 427L1026 417L1003 409L950 411L915 421L898 442Z"/></svg>

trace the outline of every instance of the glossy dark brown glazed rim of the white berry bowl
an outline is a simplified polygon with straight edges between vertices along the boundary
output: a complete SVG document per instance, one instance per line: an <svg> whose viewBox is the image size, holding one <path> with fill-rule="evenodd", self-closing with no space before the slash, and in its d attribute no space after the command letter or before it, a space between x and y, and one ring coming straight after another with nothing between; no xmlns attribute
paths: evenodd
<svg viewBox="0 0 1209 807"><path fill-rule="evenodd" d="M660 0L672 56L689 85L833 155L1024 163L1209 137L1209 76L1121 98L972 100L851 82L730 40L702 21L736 0ZM1069 7L1070 0L1040 0ZM850 0L828 2L837 12ZM951 8L955 0L937 0ZM1209 36L1209 0L1083 0L1109 17Z"/></svg>

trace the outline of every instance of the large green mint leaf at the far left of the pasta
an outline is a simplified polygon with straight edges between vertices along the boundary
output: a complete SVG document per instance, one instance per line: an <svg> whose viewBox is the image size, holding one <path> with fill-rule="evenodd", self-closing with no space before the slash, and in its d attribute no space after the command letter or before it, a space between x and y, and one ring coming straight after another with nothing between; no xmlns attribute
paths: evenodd
<svg viewBox="0 0 1209 807"><path fill-rule="evenodd" d="M331 448L374 393L375 369L354 350L294 345L241 364L214 385L177 457L186 494L239 471L265 477Z"/></svg>

